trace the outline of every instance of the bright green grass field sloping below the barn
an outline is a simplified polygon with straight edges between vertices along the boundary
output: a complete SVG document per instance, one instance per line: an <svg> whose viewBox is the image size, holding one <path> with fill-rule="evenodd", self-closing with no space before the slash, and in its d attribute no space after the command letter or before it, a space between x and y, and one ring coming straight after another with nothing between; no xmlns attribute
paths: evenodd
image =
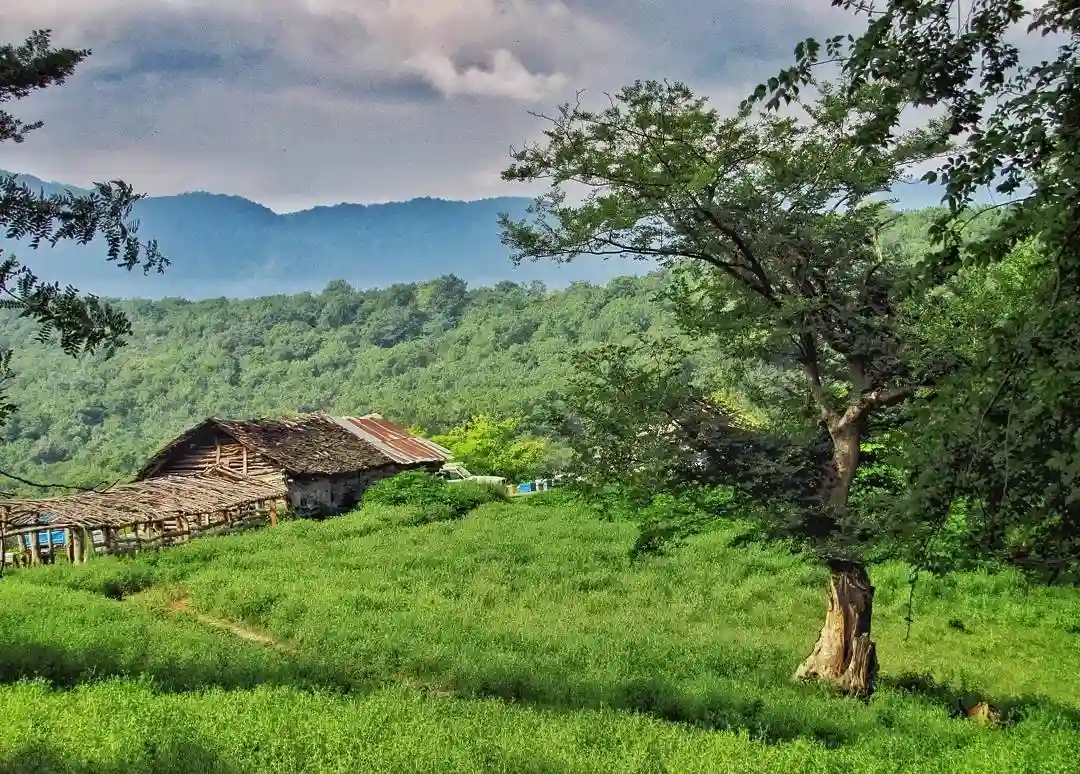
<svg viewBox="0 0 1080 774"><path fill-rule="evenodd" d="M1080 772L1080 592L876 567L869 705L794 684L823 576L719 526L631 561L548 495L0 582L0 772ZM1004 728L949 717L961 694Z"/></svg>

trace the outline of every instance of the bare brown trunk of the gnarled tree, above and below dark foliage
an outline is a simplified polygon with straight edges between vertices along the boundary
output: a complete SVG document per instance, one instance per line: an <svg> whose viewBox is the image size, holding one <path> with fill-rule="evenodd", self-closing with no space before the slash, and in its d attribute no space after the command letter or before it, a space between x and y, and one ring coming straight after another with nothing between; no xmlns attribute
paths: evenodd
<svg viewBox="0 0 1080 774"><path fill-rule="evenodd" d="M842 512L859 466L858 426L829 426L833 437L833 476L825 499L828 507ZM828 562L828 609L818 643L796 670L797 680L826 680L841 691L863 698L874 693L877 649L870 639L874 586L862 562Z"/></svg>

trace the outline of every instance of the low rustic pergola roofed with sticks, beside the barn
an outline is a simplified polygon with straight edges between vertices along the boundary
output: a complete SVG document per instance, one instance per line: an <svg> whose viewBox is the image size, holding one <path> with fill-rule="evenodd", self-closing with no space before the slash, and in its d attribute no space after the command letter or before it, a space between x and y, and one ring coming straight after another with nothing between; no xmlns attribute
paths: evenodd
<svg viewBox="0 0 1080 774"><path fill-rule="evenodd" d="M187 540L193 532L231 525L245 508L260 511L266 506L270 524L275 525L278 501L286 495L284 480L255 479L211 470L120 484L100 491L39 500L0 500L0 544L6 538L29 534L30 561L37 563L39 533L62 529L67 535L68 557L82 561L91 542L90 530L102 530L106 549L111 551L117 548L120 530L132 530L136 548L146 540L163 544L170 539ZM5 556L0 551L0 562L3 561Z"/></svg>

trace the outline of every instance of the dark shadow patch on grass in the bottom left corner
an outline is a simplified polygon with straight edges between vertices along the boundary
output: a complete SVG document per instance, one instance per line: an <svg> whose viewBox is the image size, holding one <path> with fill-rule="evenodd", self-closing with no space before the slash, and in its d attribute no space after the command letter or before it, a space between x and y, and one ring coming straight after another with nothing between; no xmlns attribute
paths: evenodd
<svg viewBox="0 0 1080 774"><path fill-rule="evenodd" d="M91 751L92 753L92 751ZM85 760L45 744L27 744L0 758L0 774L240 774L202 744L184 739L158 746L147 739L119 760Z"/></svg>

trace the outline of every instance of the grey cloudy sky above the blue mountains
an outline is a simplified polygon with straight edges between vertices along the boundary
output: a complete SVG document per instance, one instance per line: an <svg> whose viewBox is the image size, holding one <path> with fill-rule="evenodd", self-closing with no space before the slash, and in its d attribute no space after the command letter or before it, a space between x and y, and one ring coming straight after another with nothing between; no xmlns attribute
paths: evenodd
<svg viewBox="0 0 1080 774"><path fill-rule="evenodd" d="M93 56L15 106L45 127L0 168L152 194L314 204L530 194L499 180L529 111L683 80L732 106L828 0L3 0L0 41L51 28Z"/></svg>

